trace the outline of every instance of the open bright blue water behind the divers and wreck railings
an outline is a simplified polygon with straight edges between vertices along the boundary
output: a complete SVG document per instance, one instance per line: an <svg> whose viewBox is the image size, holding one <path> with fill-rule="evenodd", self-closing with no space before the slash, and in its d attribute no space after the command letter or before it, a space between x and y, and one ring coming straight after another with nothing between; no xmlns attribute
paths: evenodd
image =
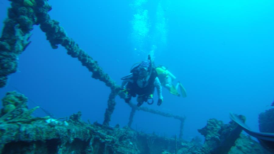
<svg viewBox="0 0 274 154"><path fill-rule="evenodd" d="M155 64L166 65L188 96L176 97L163 89L160 107L143 106L185 115L184 139L201 136L197 129L209 118L229 122L229 112L245 115L250 128L258 130L258 114L271 108L274 99L274 1L161 2L165 31L155 28L160 2L141 7L147 10L150 25L142 45L132 37L134 1L49 1L49 14L118 84L156 45ZM8 7L8 1L0 2L1 21ZM16 87L57 117L82 111L84 121L102 123L110 89L91 78L92 73L64 47L51 49L39 26L32 33L32 43L19 56L18 71L9 76L0 97ZM131 108L119 97L116 102L110 125L125 126ZM45 116L40 109L35 115ZM173 136L179 134L179 124L137 111L132 128Z"/></svg>

